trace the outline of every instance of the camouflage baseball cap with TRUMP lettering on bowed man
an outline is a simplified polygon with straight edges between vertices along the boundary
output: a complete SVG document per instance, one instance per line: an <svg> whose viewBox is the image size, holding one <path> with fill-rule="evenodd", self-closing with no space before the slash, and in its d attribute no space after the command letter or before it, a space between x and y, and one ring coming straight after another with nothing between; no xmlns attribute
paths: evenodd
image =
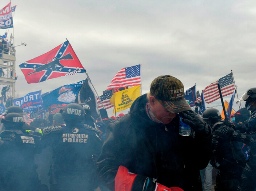
<svg viewBox="0 0 256 191"><path fill-rule="evenodd" d="M172 113L179 113L191 110L188 102L184 98L183 83L170 75L158 76L150 86L150 93L161 104Z"/></svg>

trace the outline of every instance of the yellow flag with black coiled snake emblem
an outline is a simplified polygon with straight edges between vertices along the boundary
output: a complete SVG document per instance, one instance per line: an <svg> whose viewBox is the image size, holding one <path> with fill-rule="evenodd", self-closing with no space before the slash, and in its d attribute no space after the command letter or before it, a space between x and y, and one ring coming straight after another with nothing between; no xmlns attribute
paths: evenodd
<svg viewBox="0 0 256 191"><path fill-rule="evenodd" d="M134 86L113 94L109 102L114 105L114 113L131 107L133 101L140 96L140 86Z"/></svg>

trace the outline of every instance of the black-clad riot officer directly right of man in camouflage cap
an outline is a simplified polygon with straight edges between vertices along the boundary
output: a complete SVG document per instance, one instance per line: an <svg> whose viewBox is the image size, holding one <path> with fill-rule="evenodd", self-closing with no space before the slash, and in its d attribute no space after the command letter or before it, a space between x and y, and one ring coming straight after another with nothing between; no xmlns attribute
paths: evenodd
<svg viewBox="0 0 256 191"><path fill-rule="evenodd" d="M207 110L205 110L206 112ZM239 185L246 158L239 142L231 141L234 129L221 120L220 112L211 109L212 119L212 158L211 164L219 171L216 176L215 191L235 191ZM210 113L210 112L209 112ZM205 115L204 115L205 117Z"/></svg>

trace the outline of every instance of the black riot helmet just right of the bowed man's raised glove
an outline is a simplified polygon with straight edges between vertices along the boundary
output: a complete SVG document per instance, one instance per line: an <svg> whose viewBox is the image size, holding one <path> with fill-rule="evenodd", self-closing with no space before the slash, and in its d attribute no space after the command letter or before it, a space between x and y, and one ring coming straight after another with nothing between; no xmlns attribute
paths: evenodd
<svg viewBox="0 0 256 191"><path fill-rule="evenodd" d="M220 111L215 108L206 109L203 112L202 119L209 125L213 125L221 120Z"/></svg>

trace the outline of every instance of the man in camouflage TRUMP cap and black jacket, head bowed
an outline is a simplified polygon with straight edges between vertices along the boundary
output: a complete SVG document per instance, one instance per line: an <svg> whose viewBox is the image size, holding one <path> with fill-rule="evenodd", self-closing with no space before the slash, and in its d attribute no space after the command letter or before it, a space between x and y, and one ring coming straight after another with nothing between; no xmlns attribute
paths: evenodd
<svg viewBox="0 0 256 191"><path fill-rule="evenodd" d="M191 136L179 135L179 119ZM200 169L210 158L210 127L184 99L173 76L153 80L130 113L109 123L97 162L99 178L118 191L200 191Z"/></svg>

